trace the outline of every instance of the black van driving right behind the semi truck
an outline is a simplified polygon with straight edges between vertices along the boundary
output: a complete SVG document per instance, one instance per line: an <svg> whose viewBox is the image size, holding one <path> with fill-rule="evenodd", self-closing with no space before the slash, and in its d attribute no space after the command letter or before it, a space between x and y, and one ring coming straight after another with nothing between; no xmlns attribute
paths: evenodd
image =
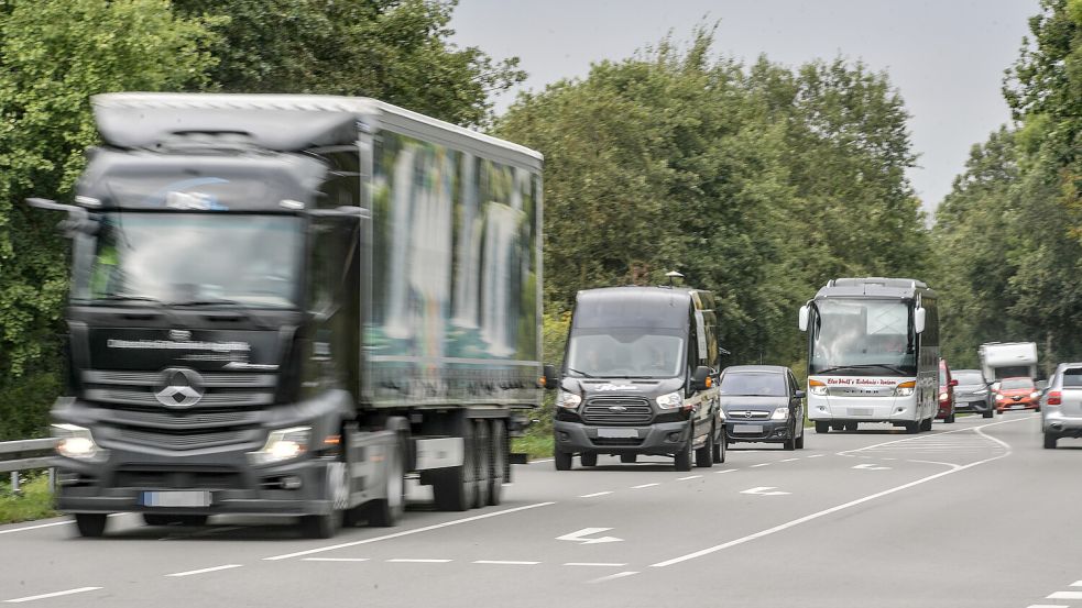
<svg viewBox="0 0 1082 608"><path fill-rule="evenodd" d="M556 468L598 454L724 462L713 295L676 287L579 291L556 401Z"/></svg>

